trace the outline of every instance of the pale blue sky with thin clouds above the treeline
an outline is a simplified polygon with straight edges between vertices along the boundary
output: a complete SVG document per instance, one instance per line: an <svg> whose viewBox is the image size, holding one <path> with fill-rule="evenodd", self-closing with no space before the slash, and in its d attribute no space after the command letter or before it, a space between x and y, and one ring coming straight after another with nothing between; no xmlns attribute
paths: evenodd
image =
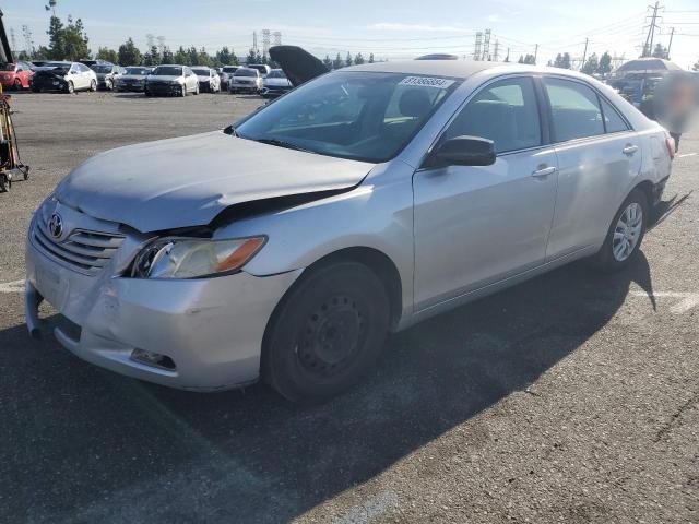
<svg viewBox="0 0 699 524"><path fill-rule="evenodd" d="M35 45L47 44L48 0L0 0L17 49L24 48L23 26ZM699 1L661 2L655 43L667 46L675 28L671 58L683 68L699 61ZM534 53L546 63L558 52L581 58L609 51L636 58L645 39L648 0L57 0L56 14L83 20L90 48L118 48L128 37L146 49L146 35L165 37L170 49L223 46L245 56L258 32L282 33L283 44L299 45L323 58L374 52L377 59L410 59L428 52L472 58L476 32L491 29L490 52L499 59Z"/></svg>

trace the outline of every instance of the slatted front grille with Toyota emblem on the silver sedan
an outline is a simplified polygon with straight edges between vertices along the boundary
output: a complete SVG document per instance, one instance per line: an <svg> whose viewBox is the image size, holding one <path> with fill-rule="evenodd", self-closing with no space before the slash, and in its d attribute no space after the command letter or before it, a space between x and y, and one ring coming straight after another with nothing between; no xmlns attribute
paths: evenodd
<svg viewBox="0 0 699 524"><path fill-rule="evenodd" d="M68 238L57 241L46 222L37 216L32 240L46 255L84 275L94 276L107 265L123 241L122 235L74 229Z"/></svg>

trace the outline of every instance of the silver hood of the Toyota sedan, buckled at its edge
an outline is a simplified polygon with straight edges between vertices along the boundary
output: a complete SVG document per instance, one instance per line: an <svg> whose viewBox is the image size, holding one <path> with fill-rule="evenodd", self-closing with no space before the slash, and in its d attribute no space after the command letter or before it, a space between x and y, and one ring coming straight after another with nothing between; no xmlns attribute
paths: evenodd
<svg viewBox="0 0 699 524"><path fill-rule="evenodd" d="M55 196L95 218L150 233L204 226L236 204L348 190L372 167L214 131L93 156Z"/></svg>

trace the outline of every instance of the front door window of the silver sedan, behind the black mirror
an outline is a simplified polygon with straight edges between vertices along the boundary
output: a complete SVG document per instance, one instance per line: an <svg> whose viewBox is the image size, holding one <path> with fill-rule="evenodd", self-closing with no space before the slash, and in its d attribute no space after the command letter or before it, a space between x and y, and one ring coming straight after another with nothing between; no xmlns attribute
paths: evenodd
<svg viewBox="0 0 699 524"><path fill-rule="evenodd" d="M442 140L462 135L491 140L496 153L541 145L542 130L532 79L501 80L479 91L449 126Z"/></svg>

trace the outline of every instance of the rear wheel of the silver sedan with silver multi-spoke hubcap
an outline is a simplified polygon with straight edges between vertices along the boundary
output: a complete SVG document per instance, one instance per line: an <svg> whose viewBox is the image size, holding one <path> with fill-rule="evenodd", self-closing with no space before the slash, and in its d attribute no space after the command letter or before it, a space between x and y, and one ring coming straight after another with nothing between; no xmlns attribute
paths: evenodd
<svg viewBox="0 0 699 524"><path fill-rule="evenodd" d="M649 218L648 198L643 191L635 189L614 215L604 245L593 258L593 264L609 273L626 267L638 254Z"/></svg>

